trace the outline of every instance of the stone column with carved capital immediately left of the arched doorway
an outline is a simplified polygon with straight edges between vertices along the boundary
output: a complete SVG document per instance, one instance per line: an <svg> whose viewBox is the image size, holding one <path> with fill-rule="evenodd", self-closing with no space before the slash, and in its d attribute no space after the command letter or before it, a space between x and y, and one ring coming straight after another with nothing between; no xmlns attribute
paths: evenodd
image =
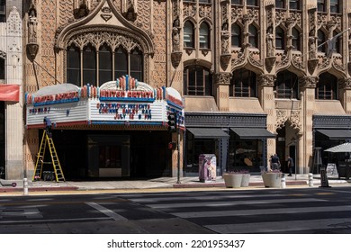
<svg viewBox="0 0 351 252"><path fill-rule="evenodd" d="M267 130L275 132L275 94L273 87L275 85L275 76L273 75L261 75L257 79L258 85L258 100L261 103L262 109L267 114ZM267 139L267 153L266 158L269 160L273 154L275 154L276 139ZM269 162L266 164L269 166Z"/></svg>

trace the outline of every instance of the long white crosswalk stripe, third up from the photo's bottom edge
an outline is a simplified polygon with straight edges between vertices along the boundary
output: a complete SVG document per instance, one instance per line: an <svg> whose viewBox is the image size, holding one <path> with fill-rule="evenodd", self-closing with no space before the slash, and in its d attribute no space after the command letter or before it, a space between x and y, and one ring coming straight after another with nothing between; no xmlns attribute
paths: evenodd
<svg viewBox="0 0 351 252"><path fill-rule="evenodd" d="M165 204L148 204L148 207L157 209L169 208L185 208L185 207L219 207L219 206L238 206L249 204L271 204L271 203L287 203L287 202L328 202L327 200L315 198L302 198L302 199L277 199L277 200L251 200L251 201L220 201L220 202L178 202L178 203L165 203Z"/></svg>

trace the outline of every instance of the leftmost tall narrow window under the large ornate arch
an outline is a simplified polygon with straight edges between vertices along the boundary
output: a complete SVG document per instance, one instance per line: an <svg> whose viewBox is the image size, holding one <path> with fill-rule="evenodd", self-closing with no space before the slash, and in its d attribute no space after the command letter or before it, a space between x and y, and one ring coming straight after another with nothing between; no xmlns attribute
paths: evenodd
<svg viewBox="0 0 351 252"><path fill-rule="evenodd" d="M67 83L80 86L80 50L76 46L67 49Z"/></svg>

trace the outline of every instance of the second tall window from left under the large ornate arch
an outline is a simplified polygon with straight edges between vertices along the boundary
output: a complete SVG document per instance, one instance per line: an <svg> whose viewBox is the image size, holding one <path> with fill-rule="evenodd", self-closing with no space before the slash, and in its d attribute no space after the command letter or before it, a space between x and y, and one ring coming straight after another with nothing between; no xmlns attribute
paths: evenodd
<svg viewBox="0 0 351 252"><path fill-rule="evenodd" d="M83 84L96 85L96 50L88 45L83 50Z"/></svg>

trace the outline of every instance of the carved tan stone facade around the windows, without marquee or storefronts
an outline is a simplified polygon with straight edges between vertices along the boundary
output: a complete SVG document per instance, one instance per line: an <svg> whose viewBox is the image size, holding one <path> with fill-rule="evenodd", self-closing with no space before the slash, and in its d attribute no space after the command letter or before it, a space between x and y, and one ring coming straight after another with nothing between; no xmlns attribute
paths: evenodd
<svg viewBox="0 0 351 252"><path fill-rule="evenodd" d="M320 11L317 0L300 1L303 3L297 8L277 7L270 0L257 1L257 6L247 5L247 1L205 2L32 0L23 6L27 45L24 91L67 81L69 43L75 42L80 49L105 40L130 49L139 47L144 57L144 81L152 86L172 86L184 94L185 112L209 117L212 112L265 114L266 130L278 136L284 130L284 137L267 139L265 158L277 151L285 156L293 146L298 172L309 172L314 147L313 116L347 116L351 112L349 31L340 37L338 51L331 56L319 47L321 38L329 40L350 26L351 4L340 0L338 11L331 12L330 1L326 1L325 11ZM31 8L36 11L34 22ZM193 46L185 43L185 23L193 27ZM233 34L234 24L241 31L238 45L233 42L238 37ZM31 25L36 25L36 40L30 41ZM203 28L206 26L208 33ZM284 47L277 47L281 35ZM199 46L203 40L207 44ZM31 57L30 49L35 52ZM199 66L211 75L209 94L194 94L189 88L191 83L185 84L185 69ZM238 90L231 80L240 69L256 76L255 95L236 95ZM281 81L279 74L284 73L296 77L293 86L277 83ZM332 99L321 99L326 93L316 91L320 77L326 73L337 80L334 85L338 94ZM292 96L280 96L284 88ZM27 130L24 143L25 165L32 169L38 132Z"/></svg>

